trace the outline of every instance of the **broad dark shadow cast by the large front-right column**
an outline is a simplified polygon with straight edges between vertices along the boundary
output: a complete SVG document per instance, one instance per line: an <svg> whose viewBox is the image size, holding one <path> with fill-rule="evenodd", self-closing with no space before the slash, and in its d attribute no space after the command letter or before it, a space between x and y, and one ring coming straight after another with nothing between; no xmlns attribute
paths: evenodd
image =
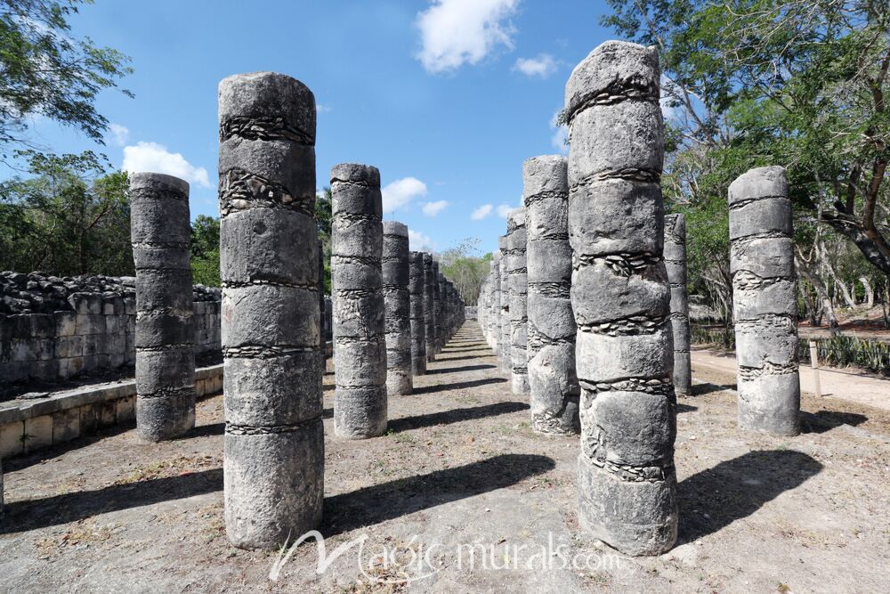
<svg viewBox="0 0 890 594"><path fill-rule="evenodd" d="M767 501L804 484L822 468L805 453L763 450L702 470L677 488L680 539L696 541L751 516ZM698 511L693 513L693 509Z"/></svg>

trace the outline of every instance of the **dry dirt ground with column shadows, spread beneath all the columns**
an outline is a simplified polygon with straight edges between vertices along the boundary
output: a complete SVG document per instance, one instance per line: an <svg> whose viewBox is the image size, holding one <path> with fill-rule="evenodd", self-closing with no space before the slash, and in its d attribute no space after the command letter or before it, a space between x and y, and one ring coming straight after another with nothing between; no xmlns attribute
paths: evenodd
<svg viewBox="0 0 890 594"><path fill-rule="evenodd" d="M578 530L578 439L530 431L527 399L469 322L391 431L333 438L325 377L328 560L313 541L229 546L220 396L189 438L107 433L5 464L0 590L15 592L878 592L890 583L890 413L805 396L805 433L735 427L735 379L694 366L680 402L680 541L617 555ZM356 544L358 543L358 544Z"/></svg>

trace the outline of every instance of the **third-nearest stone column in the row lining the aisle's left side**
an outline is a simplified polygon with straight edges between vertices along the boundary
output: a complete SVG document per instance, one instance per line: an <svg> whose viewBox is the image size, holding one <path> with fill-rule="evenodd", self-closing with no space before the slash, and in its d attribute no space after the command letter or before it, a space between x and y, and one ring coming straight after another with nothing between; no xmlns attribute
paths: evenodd
<svg viewBox="0 0 890 594"><path fill-rule="evenodd" d="M408 227L384 223L386 394L411 394L411 298Z"/></svg>

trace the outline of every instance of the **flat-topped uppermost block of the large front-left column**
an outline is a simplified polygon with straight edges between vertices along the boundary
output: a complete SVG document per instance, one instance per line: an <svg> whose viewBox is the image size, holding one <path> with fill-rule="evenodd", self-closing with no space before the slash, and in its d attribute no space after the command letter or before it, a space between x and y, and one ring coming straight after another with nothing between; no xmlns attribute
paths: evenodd
<svg viewBox="0 0 890 594"><path fill-rule="evenodd" d="M250 72L219 85L220 141L238 134L250 140L315 144L315 95L294 77Z"/></svg>

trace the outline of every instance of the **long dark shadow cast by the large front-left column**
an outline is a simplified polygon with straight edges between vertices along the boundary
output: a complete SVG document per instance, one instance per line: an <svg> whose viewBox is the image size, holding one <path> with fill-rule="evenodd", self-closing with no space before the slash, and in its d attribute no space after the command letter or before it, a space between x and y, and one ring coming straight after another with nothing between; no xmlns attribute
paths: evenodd
<svg viewBox="0 0 890 594"><path fill-rule="evenodd" d="M421 509L503 489L555 467L554 460L546 456L501 454L327 497L320 532L328 537L380 524Z"/></svg>

